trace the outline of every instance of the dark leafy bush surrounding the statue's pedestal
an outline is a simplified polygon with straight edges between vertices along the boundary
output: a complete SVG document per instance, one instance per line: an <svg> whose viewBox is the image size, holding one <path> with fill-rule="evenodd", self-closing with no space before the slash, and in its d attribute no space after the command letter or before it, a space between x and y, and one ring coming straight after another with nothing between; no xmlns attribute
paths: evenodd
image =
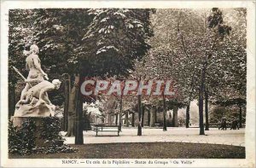
<svg viewBox="0 0 256 168"><path fill-rule="evenodd" d="M49 146L36 146L35 132L39 132L40 139L44 143L49 142ZM54 153L73 153L77 151L67 145L61 145L60 141L64 141L60 135L61 121L58 118L44 118L42 127L37 128L35 122L28 118L22 126L16 127L9 121L9 154L54 154Z"/></svg>

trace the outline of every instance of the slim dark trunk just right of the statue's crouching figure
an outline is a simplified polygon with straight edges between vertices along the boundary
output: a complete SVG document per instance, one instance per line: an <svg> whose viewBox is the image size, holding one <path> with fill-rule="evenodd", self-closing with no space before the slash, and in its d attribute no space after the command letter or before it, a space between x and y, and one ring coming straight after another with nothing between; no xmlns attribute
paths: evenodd
<svg viewBox="0 0 256 168"><path fill-rule="evenodd" d="M70 88L70 76L67 74L65 78L64 83L64 95L65 95L65 102L64 102L64 124L63 124L63 130L68 130L68 104L69 104L69 88Z"/></svg>

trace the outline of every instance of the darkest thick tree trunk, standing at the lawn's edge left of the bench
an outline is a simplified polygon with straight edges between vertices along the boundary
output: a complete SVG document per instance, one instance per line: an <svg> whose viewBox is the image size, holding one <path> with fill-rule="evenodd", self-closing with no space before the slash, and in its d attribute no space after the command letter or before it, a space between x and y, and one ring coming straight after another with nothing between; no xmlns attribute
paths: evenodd
<svg viewBox="0 0 256 168"><path fill-rule="evenodd" d="M76 78L79 78L79 76L76 76ZM81 81L82 78L79 78L79 81ZM82 145L84 144L84 119L83 119L83 97L79 90L80 88L80 82L78 82L77 85L77 95L76 95L76 134L75 134L75 144L76 145Z"/></svg>

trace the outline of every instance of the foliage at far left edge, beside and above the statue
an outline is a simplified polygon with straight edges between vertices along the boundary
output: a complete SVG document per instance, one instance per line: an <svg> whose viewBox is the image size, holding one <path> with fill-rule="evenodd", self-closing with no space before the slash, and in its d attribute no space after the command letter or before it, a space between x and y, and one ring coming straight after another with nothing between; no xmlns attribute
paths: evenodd
<svg viewBox="0 0 256 168"><path fill-rule="evenodd" d="M31 12L30 9L9 10L9 84L16 84L20 78L12 66L17 67L21 73L27 74L26 55L23 54L23 50L29 47L28 43L32 43Z"/></svg>

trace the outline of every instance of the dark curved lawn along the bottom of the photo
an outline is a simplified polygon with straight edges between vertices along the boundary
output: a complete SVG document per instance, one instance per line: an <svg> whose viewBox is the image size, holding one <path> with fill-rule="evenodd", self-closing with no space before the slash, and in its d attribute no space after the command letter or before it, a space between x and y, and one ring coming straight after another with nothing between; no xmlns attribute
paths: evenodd
<svg viewBox="0 0 256 168"><path fill-rule="evenodd" d="M70 145L71 154L9 155L10 159L245 159L245 148L230 145L143 142Z"/></svg>

